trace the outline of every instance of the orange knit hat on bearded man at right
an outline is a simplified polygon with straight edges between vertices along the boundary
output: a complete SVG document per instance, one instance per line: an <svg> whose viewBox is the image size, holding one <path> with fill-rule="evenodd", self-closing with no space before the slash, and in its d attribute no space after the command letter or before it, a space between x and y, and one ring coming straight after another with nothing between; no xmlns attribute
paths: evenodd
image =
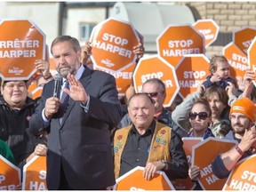
<svg viewBox="0 0 256 192"><path fill-rule="evenodd" d="M240 98L237 99L230 108L229 115L232 113L242 113L252 122L254 122L256 116L256 107L252 100L249 100L248 98Z"/></svg>

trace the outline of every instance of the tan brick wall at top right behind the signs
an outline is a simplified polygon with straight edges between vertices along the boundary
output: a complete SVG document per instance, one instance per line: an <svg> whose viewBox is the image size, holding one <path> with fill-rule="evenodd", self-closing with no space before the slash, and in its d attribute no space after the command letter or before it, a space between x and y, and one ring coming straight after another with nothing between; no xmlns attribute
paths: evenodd
<svg viewBox="0 0 256 192"><path fill-rule="evenodd" d="M232 41L234 30L256 28L256 2L182 2L194 12L196 20L212 19L220 26L216 42L206 49L206 56L221 54L222 48Z"/></svg>

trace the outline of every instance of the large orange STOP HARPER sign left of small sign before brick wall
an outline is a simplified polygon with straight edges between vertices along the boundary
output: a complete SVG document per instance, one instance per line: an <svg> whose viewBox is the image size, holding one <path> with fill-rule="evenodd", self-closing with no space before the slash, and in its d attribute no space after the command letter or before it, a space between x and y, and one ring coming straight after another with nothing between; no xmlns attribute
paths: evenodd
<svg viewBox="0 0 256 192"><path fill-rule="evenodd" d="M191 25L168 26L156 39L157 53L176 67L185 54L204 53L204 36Z"/></svg>

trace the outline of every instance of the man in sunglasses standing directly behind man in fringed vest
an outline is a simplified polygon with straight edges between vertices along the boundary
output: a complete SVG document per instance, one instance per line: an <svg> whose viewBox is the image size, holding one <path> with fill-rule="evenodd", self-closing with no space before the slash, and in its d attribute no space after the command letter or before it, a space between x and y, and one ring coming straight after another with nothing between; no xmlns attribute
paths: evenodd
<svg viewBox="0 0 256 192"><path fill-rule="evenodd" d="M172 130L176 132L180 138L188 136L188 132L180 128L178 124L175 124L172 120L172 112L164 108L164 100L166 98L165 84L158 78L148 79L142 85L142 92L148 94L148 96L154 100L155 104L155 115L154 119L162 124L172 127ZM128 114L126 114L117 128L122 128L132 124L132 121Z"/></svg>

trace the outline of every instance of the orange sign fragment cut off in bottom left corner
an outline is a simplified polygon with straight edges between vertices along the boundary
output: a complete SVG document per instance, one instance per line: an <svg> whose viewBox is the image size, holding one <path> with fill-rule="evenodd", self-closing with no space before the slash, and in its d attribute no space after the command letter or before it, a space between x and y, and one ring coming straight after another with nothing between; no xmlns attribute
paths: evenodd
<svg viewBox="0 0 256 192"><path fill-rule="evenodd" d="M0 190L20 189L20 168L0 155Z"/></svg>

